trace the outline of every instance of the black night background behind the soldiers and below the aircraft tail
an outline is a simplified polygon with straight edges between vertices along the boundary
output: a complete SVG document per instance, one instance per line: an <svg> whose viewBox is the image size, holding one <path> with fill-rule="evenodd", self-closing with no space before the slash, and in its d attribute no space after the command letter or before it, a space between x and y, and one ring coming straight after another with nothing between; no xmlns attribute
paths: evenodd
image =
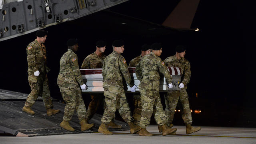
<svg viewBox="0 0 256 144"><path fill-rule="evenodd" d="M256 127L255 81L255 10L239 1L201 0L191 28L198 32L179 31L161 26L179 0L130 0L83 18L50 26L45 46L50 91L62 100L57 86L60 57L67 51L66 41L78 38L78 62L96 50L97 40L106 40L105 54L112 52L112 41L125 41L127 62L140 55L142 44L161 42L162 59L175 54L175 46L188 46L185 58L192 75L188 96L193 124L200 126ZM126 24L122 24L126 23ZM0 42L0 88L30 93L27 75L26 46L36 32ZM197 93L197 97L196 97ZM83 94L86 106L90 96ZM132 105L132 95L127 94ZM163 94L161 93L161 98ZM162 99L163 100L163 99ZM179 108L177 108L178 110ZM98 110L102 114L102 109ZM116 118L120 119L117 114ZM152 120L154 123L154 120ZM179 112L174 125L182 125Z"/></svg>

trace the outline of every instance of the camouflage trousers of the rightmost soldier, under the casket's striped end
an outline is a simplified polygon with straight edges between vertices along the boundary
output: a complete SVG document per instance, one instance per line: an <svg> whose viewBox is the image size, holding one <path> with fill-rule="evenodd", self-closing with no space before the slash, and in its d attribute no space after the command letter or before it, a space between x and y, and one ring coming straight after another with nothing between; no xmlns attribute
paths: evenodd
<svg viewBox="0 0 256 144"><path fill-rule="evenodd" d="M188 102L188 94L186 89L166 92L165 94L165 113L167 117L167 122L172 123L175 113L175 108L177 106L178 101L181 102L183 110L182 110L182 119L185 124L192 124L192 116L190 112L189 102Z"/></svg>

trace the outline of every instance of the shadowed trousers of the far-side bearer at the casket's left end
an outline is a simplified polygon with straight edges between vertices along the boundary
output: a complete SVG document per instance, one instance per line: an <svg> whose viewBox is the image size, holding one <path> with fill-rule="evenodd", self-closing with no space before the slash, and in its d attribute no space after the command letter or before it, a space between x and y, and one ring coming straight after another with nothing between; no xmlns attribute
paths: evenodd
<svg viewBox="0 0 256 144"><path fill-rule="evenodd" d="M91 94L92 101L90 102L87 112L86 112L86 118L90 120L93 115L98 110L99 105L101 104L103 108L105 109L105 97L103 94Z"/></svg>

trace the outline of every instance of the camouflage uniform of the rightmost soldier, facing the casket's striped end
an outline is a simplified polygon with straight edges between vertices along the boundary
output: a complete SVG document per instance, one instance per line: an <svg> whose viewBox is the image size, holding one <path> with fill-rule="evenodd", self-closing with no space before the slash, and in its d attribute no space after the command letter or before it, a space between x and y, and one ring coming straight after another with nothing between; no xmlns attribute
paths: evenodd
<svg viewBox="0 0 256 144"><path fill-rule="evenodd" d="M172 123L174 118L175 108L177 106L178 101L181 102L183 111L182 111L182 119L185 124L192 123L192 117L188 102L188 94L186 92L187 84L190 80L191 76L191 68L190 63L185 58L177 59L176 56L170 56L164 60L166 66L173 66L181 68L181 82L184 84L184 88L177 91L166 92L165 95L165 113L167 116L168 123Z"/></svg>

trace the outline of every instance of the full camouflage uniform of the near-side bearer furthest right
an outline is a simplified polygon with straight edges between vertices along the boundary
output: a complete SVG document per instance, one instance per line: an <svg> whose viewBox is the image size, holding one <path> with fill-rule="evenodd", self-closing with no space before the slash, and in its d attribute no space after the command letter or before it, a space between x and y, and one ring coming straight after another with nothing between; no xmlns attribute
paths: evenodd
<svg viewBox="0 0 256 144"><path fill-rule="evenodd" d="M164 74L168 84L172 82L168 68L161 58L153 52L143 56L136 66L136 76L140 80L139 89L142 101L141 128L146 128L150 124L152 114L158 125L162 126L167 122L159 95L159 72Z"/></svg>

